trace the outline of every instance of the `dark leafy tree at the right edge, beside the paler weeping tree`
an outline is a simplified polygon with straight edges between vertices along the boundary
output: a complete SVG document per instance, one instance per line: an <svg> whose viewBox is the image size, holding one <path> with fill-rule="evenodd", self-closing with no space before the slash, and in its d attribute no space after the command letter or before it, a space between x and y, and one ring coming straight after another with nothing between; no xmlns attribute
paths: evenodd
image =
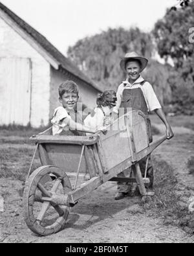
<svg viewBox="0 0 194 256"><path fill-rule="evenodd" d="M172 103L179 112L194 111L194 51L189 43L189 29L194 27L194 2L167 10L163 19L155 24L155 36L158 53L166 60L173 60L174 69L169 77L172 89Z"/></svg>

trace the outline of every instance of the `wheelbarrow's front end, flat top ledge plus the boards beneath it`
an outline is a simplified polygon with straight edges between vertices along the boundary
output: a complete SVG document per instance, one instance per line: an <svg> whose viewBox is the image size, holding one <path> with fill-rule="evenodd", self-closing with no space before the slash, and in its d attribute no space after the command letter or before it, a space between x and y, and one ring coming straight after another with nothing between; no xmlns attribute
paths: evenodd
<svg viewBox="0 0 194 256"><path fill-rule="evenodd" d="M87 136L52 136L51 129L34 135L30 139L38 143L39 158L42 165L54 165L64 172L77 172L82 146L85 152L81 157L80 173L89 173L90 178L95 176L94 167L91 167L93 155L91 146L96 143L98 137Z"/></svg>

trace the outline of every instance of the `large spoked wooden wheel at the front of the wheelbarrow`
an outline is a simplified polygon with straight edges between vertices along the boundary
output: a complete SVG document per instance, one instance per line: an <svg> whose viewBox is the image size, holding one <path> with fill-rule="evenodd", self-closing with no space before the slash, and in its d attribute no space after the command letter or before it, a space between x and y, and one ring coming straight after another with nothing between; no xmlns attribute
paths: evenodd
<svg viewBox="0 0 194 256"><path fill-rule="evenodd" d="M52 174L52 175L49 175ZM50 235L63 229L69 206L49 202L53 193L71 191L69 178L58 167L43 166L28 178L23 193L24 216L27 226L38 235Z"/></svg>

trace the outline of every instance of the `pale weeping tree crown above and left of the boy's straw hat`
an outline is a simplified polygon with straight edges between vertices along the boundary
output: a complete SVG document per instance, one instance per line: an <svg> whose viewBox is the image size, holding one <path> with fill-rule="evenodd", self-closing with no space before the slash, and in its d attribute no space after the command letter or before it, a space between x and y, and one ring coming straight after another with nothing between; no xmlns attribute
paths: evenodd
<svg viewBox="0 0 194 256"><path fill-rule="evenodd" d="M68 57L102 89L116 89L125 79L119 60L128 51L151 57L151 35L138 28L109 29L90 38L79 40L69 47Z"/></svg>

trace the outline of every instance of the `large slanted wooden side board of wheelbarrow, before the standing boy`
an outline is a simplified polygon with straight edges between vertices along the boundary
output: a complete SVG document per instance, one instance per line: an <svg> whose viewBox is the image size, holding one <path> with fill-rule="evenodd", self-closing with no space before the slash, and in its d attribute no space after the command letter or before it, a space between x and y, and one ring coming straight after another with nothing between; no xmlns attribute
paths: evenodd
<svg viewBox="0 0 194 256"><path fill-rule="evenodd" d="M142 112L132 111L114 122L106 135L100 134L103 156L107 169L134 159L136 154L149 146L146 119Z"/></svg>

